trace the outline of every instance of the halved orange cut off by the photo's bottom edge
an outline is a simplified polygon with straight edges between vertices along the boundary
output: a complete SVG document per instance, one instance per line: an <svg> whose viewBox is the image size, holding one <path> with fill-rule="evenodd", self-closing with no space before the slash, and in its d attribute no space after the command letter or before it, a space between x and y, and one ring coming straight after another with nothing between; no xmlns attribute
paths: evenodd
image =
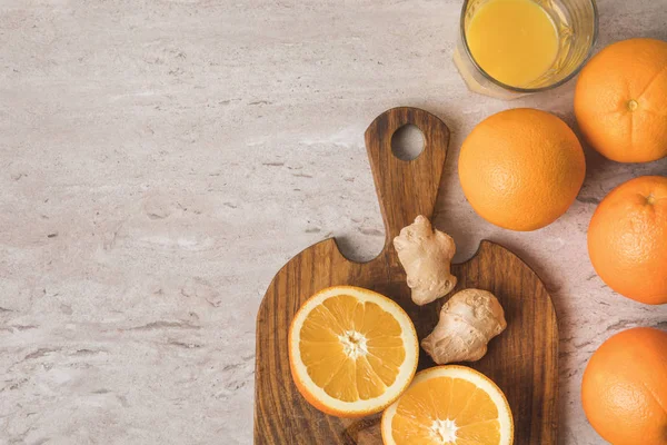
<svg viewBox="0 0 667 445"><path fill-rule="evenodd" d="M415 376L382 415L386 445L509 445L514 422L505 395L484 374L437 366Z"/></svg>

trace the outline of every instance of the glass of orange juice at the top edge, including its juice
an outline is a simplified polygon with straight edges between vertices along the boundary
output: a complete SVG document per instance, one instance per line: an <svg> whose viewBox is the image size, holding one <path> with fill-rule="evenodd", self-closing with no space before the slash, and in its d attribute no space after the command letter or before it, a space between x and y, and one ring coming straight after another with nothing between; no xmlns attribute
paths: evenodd
<svg viewBox="0 0 667 445"><path fill-rule="evenodd" d="M575 77L597 28L595 0L466 0L454 61L470 90L514 99Z"/></svg>

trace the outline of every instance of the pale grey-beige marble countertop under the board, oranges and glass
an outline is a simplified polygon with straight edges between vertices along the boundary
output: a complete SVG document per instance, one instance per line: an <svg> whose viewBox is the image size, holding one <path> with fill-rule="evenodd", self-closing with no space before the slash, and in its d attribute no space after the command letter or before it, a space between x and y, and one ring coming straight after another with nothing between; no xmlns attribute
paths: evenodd
<svg viewBox="0 0 667 445"><path fill-rule="evenodd" d="M255 317L273 274L326 237L368 259L384 228L362 135L416 106L452 131L436 225L547 284L560 326L560 439L600 444L584 366L667 308L595 275L596 204L667 159L587 149L577 201L549 227L479 218L456 176L462 138L509 107L575 126L570 82L502 102L451 61L460 1L0 2L0 444L249 444ZM600 0L597 49L667 39L655 0ZM575 127L576 128L576 127Z"/></svg>

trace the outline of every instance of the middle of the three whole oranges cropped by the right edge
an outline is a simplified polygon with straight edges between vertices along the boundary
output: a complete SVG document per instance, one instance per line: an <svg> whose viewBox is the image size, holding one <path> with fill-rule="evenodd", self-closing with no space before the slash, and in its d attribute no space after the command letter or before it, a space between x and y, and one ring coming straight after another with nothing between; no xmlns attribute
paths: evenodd
<svg viewBox="0 0 667 445"><path fill-rule="evenodd" d="M588 226L588 256L617 293L667 303L667 177L641 176L611 190Z"/></svg>

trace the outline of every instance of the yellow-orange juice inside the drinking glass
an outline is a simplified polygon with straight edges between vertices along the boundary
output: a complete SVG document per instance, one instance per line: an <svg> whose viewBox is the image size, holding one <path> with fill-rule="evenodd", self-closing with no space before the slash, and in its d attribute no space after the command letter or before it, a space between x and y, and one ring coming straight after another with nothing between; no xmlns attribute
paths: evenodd
<svg viewBox="0 0 667 445"><path fill-rule="evenodd" d="M470 53L481 69L510 87L539 79L558 55L558 30L532 0L488 0L466 29Z"/></svg>

